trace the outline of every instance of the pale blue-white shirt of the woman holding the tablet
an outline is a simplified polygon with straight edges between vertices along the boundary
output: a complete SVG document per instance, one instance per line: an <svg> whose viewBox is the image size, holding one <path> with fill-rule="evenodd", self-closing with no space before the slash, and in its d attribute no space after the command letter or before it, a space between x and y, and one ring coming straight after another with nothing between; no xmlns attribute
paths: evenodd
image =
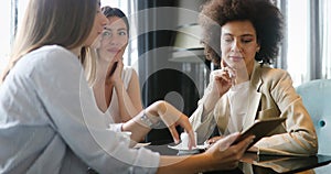
<svg viewBox="0 0 331 174"><path fill-rule="evenodd" d="M0 173L156 173L160 156L115 139L78 58L43 46L0 87Z"/></svg>

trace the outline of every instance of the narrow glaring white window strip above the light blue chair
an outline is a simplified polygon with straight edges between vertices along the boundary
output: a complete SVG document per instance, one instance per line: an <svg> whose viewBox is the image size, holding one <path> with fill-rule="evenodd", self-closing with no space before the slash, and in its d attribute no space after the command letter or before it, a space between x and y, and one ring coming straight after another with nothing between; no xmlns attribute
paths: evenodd
<svg viewBox="0 0 331 174"><path fill-rule="evenodd" d="M308 3L310 0L287 1L287 67L293 79L293 85L298 86L309 79L309 23Z"/></svg>

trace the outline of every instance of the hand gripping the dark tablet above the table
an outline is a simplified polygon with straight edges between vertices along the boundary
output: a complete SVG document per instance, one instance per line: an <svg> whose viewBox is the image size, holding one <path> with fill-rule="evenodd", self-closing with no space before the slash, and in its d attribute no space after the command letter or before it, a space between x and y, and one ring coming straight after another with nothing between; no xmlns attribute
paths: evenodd
<svg viewBox="0 0 331 174"><path fill-rule="evenodd" d="M207 149L204 155L206 155L212 170L233 170L237 167L239 160L243 157L249 143L252 143L254 139L254 135L252 135L239 143L232 145L238 135L239 133L229 134L216 141Z"/></svg>

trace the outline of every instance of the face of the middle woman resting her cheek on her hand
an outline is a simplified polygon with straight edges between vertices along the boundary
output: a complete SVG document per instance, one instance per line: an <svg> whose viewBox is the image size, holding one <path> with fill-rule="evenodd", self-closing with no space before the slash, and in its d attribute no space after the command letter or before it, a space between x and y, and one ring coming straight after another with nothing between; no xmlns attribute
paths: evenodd
<svg viewBox="0 0 331 174"><path fill-rule="evenodd" d="M100 57L114 57L117 53L121 54L121 57L127 44L128 28L126 23L118 17L109 17L108 24L102 34L99 47Z"/></svg>

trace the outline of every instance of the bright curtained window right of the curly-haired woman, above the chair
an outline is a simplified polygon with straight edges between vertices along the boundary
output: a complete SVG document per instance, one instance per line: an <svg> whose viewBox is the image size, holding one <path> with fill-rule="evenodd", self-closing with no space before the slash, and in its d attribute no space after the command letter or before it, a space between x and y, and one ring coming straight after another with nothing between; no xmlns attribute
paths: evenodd
<svg viewBox="0 0 331 174"><path fill-rule="evenodd" d="M331 2L278 0L286 19L284 54L278 67L287 69L293 86L331 78Z"/></svg>

